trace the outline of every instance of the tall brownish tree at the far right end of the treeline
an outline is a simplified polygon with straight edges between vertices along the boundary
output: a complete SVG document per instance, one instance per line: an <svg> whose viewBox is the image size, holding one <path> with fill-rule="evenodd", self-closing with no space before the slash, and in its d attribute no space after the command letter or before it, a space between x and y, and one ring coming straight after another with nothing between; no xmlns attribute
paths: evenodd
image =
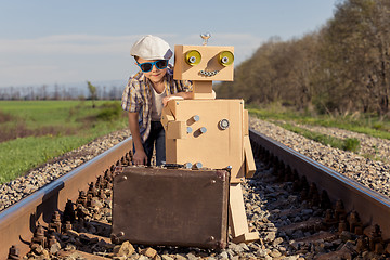
<svg viewBox="0 0 390 260"><path fill-rule="evenodd" d="M388 0L348 0L337 5L322 46L329 96L341 110L389 112ZM329 86L330 84L330 86ZM324 84L323 84L324 86Z"/></svg>

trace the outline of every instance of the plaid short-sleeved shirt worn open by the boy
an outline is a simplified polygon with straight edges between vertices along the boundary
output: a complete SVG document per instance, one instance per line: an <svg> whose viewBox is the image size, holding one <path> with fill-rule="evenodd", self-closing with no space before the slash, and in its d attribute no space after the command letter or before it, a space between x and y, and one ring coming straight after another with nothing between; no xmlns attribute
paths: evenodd
<svg viewBox="0 0 390 260"><path fill-rule="evenodd" d="M190 81L174 80L173 70L167 69L165 75L165 88L167 95L176 94L178 92L192 91ZM152 121L152 82L140 70L129 78L128 84L122 94L121 106L127 112L139 112L139 126L141 139L143 142L147 139L151 132Z"/></svg>

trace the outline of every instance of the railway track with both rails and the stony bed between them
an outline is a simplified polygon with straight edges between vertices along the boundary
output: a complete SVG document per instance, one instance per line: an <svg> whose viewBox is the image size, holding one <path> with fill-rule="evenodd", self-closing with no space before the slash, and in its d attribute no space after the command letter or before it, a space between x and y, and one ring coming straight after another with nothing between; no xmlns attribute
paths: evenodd
<svg viewBox="0 0 390 260"><path fill-rule="evenodd" d="M128 139L2 211L0 259L26 253L28 259L166 260L390 256L388 198L256 131L250 140L258 170L246 181L244 195L249 226L261 236L258 242L230 243L222 251L113 245L109 181L115 166L130 160Z"/></svg>

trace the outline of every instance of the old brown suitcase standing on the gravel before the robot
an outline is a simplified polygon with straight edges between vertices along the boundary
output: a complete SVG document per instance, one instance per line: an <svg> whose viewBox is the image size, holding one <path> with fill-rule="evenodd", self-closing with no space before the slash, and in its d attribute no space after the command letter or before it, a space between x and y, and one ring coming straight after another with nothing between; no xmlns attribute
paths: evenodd
<svg viewBox="0 0 390 260"><path fill-rule="evenodd" d="M114 243L226 246L227 171L118 167L116 173Z"/></svg>

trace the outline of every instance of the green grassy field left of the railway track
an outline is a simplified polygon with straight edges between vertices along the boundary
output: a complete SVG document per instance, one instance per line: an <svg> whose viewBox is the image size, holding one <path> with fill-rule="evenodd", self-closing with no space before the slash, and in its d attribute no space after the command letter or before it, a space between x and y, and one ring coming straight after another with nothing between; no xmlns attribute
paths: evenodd
<svg viewBox="0 0 390 260"><path fill-rule="evenodd" d="M119 101L0 101L0 183L127 127Z"/></svg>

